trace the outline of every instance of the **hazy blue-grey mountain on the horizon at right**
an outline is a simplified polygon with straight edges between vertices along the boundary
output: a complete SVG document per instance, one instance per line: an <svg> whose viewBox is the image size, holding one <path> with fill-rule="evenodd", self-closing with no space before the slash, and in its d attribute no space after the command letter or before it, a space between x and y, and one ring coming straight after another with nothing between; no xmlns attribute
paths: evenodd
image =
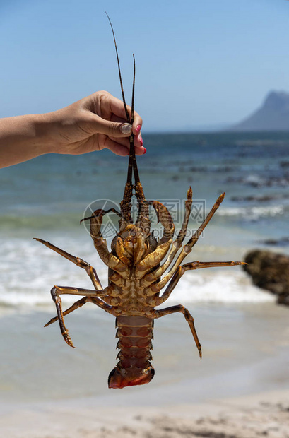
<svg viewBox="0 0 289 438"><path fill-rule="evenodd" d="M271 91L259 109L230 131L289 131L289 93Z"/></svg>

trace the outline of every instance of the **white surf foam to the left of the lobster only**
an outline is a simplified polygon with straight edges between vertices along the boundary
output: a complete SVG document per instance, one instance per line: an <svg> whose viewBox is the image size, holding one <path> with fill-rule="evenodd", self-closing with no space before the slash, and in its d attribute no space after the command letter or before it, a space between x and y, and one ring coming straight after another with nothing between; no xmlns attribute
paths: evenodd
<svg viewBox="0 0 289 438"><path fill-rule="evenodd" d="M60 238L54 242L71 254L88 260L98 270L100 280L105 283L107 270L96 261L92 242L81 248L76 242ZM70 285L92 289L93 285L85 271L62 258L54 251L41 246L32 239L3 239L1 242L2 262L0 265L0 305L35 306L52 302L50 289L54 284ZM75 301L65 297L66 302Z"/></svg>

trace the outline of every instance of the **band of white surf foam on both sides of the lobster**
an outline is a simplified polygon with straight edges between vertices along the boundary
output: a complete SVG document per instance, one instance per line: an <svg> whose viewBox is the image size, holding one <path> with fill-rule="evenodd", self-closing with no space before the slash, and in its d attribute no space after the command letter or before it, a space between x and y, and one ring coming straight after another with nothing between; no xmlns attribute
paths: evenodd
<svg viewBox="0 0 289 438"><path fill-rule="evenodd" d="M95 253L92 242L83 244L81 240L80 247L77 241L69 242L62 237L54 243L95 266L102 285L107 285L107 268ZM0 306L35 307L51 304L49 291L54 284L93 289L83 269L38 242L4 239L1 249L5 257L0 265ZM187 272L170 297L170 302L182 303L257 303L273 300L272 295L254 287L240 268ZM68 304L74 301L76 297L64 297L64 302Z"/></svg>

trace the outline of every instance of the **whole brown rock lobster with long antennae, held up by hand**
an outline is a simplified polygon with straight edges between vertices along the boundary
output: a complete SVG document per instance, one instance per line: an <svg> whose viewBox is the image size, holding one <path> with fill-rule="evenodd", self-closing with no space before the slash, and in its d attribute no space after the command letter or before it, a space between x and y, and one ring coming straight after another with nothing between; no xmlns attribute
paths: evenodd
<svg viewBox="0 0 289 438"><path fill-rule="evenodd" d="M109 17L108 19L110 20ZM111 21L110 25L112 28ZM114 37L113 28L112 34ZM114 45L119 67L115 37ZM131 118L129 117L124 98L120 67L119 80L122 88L122 98L127 121L132 124L134 122L135 61ZM90 236L93 239L95 249L98 251L100 259L102 259L108 267L107 287L102 288L95 268L90 266L86 261L79 257L72 256L49 242L36 239L38 242L45 244L46 247L72 261L76 266L85 269L94 286L93 290L88 290L54 285L51 290L51 295L57 308L57 316L52 318L45 326L58 320L64 341L73 347L69 331L64 324L65 315L83 306L86 302L91 302L116 317L116 336L119 338L117 343L117 348L119 348L117 359L119 359L119 362L117 366L112 369L108 377L109 388L142 385L153 379L155 374L151 365L153 321L161 316L175 312L181 312L184 315L191 329L191 333L194 336L196 347L199 350L199 356L201 357L201 344L196 334L194 319L189 311L182 304L166 307L165 309L155 309L155 306L163 304L163 302L170 297L179 279L186 271L211 268L213 266L235 266L244 264L242 261L192 261L182 265L182 261L191 252L191 249L198 241L204 228L208 225L208 222L223 201L225 194L221 194L218 197L204 222L198 230L194 232L187 244L184 244L182 247L191 213L191 187L189 187L187 191L182 227L174 240L175 226L167 208L159 201L146 201L145 199L143 187L138 175L133 134L131 134L129 142L129 167L124 197L120 203L120 212L114 208L110 208L110 210L107 211L98 209L94 211L92 216L83 219L90 220ZM132 182L133 174L134 184ZM138 204L138 215L135 223L131 217L131 199L133 195L136 196ZM163 226L163 236L158 240L155 239L153 232L151 232L149 206L153 207L158 221ZM107 248L107 242L102 237L101 232L102 218L110 212L117 214L120 218L119 232L117 232L117 235L112 240L111 252ZM83 220L81 220L81 222ZM177 256L178 252L179 255ZM165 256L167 256L167 259L165 259ZM174 262L176 256L177 259ZM161 264L162 262L163 264ZM167 273L165 273L165 271L167 271ZM163 274L165 275L163 276ZM165 292L163 292L163 295L160 295L160 290L165 286L167 286ZM60 295L65 294L83 295L83 297L63 312Z"/></svg>

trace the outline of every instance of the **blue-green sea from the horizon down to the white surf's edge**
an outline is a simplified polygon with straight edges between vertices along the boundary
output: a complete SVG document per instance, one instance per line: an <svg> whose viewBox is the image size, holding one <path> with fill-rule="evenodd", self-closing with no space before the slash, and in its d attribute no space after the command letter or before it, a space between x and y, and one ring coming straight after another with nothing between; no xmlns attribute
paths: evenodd
<svg viewBox="0 0 289 438"><path fill-rule="evenodd" d="M182 224L187 189L193 189L188 237L225 191L225 200L188 261L242 260L249 249L266 247L266 240L288 237L288 134L159 134L144 136L144 142L148 153L138 158L138 166L146 198L166 203L176 229ZM82 269L33 237L89 261L106 284L107 270L88 224L79 220L95 208L118 208L126 166L126 158L102 151L45 155L1 170L0 307L48 304L54 283L90 287ZM153 211L151 215L158 229ZM117 227L113 216L104 225L108 240ZM278 245L273 248L278 250ZM281 249L288 251L288 246ZM270 296L252 287L236 267L186 273L175 299L259 302Z"/></svg>

